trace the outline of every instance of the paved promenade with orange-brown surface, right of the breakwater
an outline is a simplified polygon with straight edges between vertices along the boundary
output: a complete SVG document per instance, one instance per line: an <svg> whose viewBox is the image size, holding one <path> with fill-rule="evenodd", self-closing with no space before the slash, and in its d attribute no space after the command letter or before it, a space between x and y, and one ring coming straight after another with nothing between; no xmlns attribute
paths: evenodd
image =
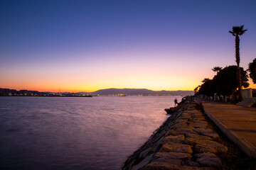
<svg viewBox="0 0 256 170"><path fill-rule="evenodd" d="M256 158L256 108L195 98L211 120L248 156Z"/></svg>

